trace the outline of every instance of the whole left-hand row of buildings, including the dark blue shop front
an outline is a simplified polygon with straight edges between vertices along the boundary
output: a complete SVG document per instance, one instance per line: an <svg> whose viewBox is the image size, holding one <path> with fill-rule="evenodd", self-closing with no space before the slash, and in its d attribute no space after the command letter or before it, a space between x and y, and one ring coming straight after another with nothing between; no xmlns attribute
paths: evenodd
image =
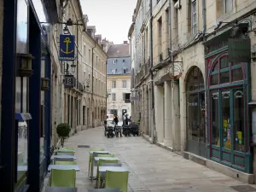
<svg viewBox="0 0 256 192"><path fill-rule="evenodd" d="M102 125L108 55L79 0L3 0L0 20L0 187L39 192L60 147L56 126L73 135ZM74 61L60 61L61 34L75 36Z"/></svg>

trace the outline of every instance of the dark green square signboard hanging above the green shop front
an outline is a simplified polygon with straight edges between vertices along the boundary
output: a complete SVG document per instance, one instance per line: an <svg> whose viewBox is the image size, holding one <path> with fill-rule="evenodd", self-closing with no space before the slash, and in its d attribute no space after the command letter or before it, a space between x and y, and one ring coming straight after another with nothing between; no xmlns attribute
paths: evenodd
<svg viewBox="0 0 256 192"><path fill-rule="evenodd" d="M249 38L229 38L229 61L250 62L251 40Z"/></svg>

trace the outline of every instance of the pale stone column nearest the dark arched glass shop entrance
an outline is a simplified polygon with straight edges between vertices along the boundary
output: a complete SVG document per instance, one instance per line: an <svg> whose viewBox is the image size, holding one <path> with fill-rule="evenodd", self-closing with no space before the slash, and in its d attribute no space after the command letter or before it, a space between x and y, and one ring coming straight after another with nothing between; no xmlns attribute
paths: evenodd
<svg viewBox="0 0 256 192"><path fill-rule="evenodd" d="M180 111L178 101L178 83L172 82L172 137L173 150L180 150Z"/></svg>

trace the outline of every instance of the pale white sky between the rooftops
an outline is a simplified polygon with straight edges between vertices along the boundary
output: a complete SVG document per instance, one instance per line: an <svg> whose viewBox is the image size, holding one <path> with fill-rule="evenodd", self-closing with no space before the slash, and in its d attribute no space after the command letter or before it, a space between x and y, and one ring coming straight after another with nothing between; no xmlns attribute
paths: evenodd
<svg viewBox="0 0 256 192"><path fill-rule="evenodd" d="M80 0L83 14L88 15L89 25L96 26L96 34L123 44L128 40L133 10L137 0Z"/></svg>

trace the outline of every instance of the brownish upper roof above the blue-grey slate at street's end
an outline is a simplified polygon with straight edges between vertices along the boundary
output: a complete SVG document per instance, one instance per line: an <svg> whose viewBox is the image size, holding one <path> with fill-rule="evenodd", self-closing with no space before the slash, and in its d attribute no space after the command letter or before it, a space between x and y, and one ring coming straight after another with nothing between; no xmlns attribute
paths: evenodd
<svg viewBox="0 0 256 192"><path fill-rule="evenodd" d="M107 52L108 58L130 56L129 49L130 49L129 44L113 44L108 49L108 52Z"/></svg>

